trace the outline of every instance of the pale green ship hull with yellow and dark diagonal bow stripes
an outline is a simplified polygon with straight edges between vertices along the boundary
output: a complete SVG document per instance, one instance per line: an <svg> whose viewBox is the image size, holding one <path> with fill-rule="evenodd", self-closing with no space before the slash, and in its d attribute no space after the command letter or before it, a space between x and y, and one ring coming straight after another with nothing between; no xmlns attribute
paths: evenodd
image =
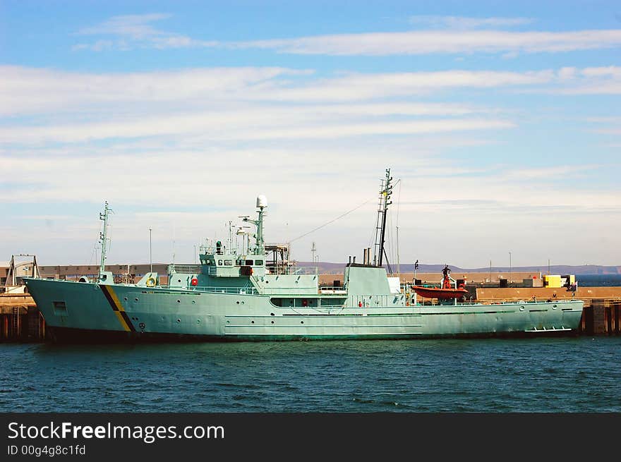
<svg viewBox="0 0 621 462"><path fill-rule="evenodd" d="M278 303L288 305L279 306L273 295L243 289L215 293L46 279L28 279L27 285L57 341L548 336L575 334L583 308L581 300L410 305L402 294L347 293L282 296Z"/></svg>

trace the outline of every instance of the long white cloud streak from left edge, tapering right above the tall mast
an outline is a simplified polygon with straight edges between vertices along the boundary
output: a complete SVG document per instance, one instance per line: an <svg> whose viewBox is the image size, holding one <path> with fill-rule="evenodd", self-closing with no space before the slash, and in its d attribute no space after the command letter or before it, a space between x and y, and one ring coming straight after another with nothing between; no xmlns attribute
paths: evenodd
<svg viewBox="0 0 621 462"><path fill-rule="evenodd" d="M350 115L354 114L350 107ZM384 111L387 114L386 111ZM361 135L438 133L454 130L494 130L514 126L509 121L450 118L416 121L359 121L313 114L312 108L255 108L212 113L150 116L98 123L72 123L44 127L0 128L5 143L42 144L89 142L109 138L144 138L166 135L200 135L205 140L267 140L292 138L342 138Z"/></svg>

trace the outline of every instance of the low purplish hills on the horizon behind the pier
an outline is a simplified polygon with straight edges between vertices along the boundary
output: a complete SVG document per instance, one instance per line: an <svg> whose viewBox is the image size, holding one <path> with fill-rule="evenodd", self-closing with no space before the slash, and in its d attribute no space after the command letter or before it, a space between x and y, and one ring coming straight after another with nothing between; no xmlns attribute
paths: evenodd
<svg viewBox="0 0 621 462"><path fill-rule="evenodd" d="M339 274L343 272L345 263L320 262L320 273L323 274ZM298 266L314 266L312 262L298 262ZM490 271L490 267L485 268L460 268L449 264L453 272L472 272L485 273ZM394 270L396 265L392 265ZM418 265L418 272L421 273L440 273L444 265ZM414 272L414 264L402 264L400 266L402 273ZM493 272L509 272L509 267L492 267ZM514 272L542 272L548 273L548 265L529 266L529 267L511 267ZM621 266L602 266L602 265L551 265L551 274L621 274Z"/></svg>

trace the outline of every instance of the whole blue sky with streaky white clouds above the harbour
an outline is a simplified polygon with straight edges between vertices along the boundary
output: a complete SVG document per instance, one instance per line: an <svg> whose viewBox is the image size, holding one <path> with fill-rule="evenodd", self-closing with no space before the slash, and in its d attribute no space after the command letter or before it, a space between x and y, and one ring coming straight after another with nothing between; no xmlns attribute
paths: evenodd
<svg viewBox="0 0 621 462"><path fill-rule="evenodd" d="M0 0L0 260L621 265L620 107L618 1Z"/></svg>

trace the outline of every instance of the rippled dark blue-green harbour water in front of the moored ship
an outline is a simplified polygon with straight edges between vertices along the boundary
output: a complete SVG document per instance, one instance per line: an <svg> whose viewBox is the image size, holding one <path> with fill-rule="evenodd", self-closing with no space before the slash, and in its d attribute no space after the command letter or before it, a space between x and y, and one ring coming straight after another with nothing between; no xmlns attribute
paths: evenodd
<svg viewBox="0 0 621 462"><path fill-rule="evenodd" d="M621 338L0 345L0 411L621 412Z"/></svg>

